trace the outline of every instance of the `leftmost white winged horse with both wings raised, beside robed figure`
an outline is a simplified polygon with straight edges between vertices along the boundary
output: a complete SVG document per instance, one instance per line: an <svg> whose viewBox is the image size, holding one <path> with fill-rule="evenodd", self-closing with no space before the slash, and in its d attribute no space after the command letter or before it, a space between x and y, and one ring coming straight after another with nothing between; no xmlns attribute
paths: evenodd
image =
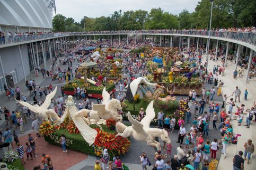
<svg viewBox="0 0 256 170"><path fill-rule="evenodd" d="M45 102L41 106L38 105L30 105L28 102L24 101L18 101L20 105L25 106L29 108L31 111L35 112L37 114L37 117L41 118L42 120L49 121L49 122L60 122L60 118L56 114L56 112L53 109L47 109L50 106L51 99L56 95L57 92L57 86L55 87L54 91L52 91L49 95L46 96Z"/></svg>

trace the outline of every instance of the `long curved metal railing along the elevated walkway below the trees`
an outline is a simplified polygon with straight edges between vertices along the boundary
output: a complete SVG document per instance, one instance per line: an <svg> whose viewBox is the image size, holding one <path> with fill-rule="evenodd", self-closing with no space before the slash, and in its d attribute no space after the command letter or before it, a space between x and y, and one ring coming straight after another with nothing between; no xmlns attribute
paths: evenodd
<svg viewBox="0 0 256 170"><path fill-rule="evenodd" d="M40 40L51 37L71 36L71 35L104 35L104 34L143 34L143 30L139 31L99 31L99 32L69 32L69 33L48 33L48 34L31 34L31 35L12 35L0 37L0 45L16 42L24 42L30 40ZM208 36L209 31L187 31L187 30L145 30L145 34L179 34L179 35L195 35ZM227 32L227 31L211 31L212 37L220 37L231 39L256 45L256 33L249 32Z"/></svg>

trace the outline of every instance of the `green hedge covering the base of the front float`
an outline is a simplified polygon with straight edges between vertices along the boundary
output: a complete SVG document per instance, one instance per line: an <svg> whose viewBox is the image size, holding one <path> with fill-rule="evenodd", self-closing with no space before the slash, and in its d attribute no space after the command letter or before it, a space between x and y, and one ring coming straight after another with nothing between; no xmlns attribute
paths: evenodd
<svg viewBox="0 0 256 170"><path fill-rule="evenodd" d="M107 131L108 133L116 133L116 131L109 130L106 125L101 125L104 131ZM96 125L91 125L91 127L98 127ZM52 136L57 136L60 138L61 135L65 135L67 140L67 148L71 150L76 150L78 152L82 152L84 154L93 155L95 156L93 145L89 146L89 144L84 140L83 136L81 134L69 134L66 129L59 129L56 130L54 133L52 133ZM56 138L56 137L54 137ZM45 136L45 140L53 145L61 146L59 143L55 142L55 139L52 139L51 136ZM72 145L68 144L68 141L72 140ZM113 154L117 153L111 153L109 152L109 156L112 159Z"/></svg>

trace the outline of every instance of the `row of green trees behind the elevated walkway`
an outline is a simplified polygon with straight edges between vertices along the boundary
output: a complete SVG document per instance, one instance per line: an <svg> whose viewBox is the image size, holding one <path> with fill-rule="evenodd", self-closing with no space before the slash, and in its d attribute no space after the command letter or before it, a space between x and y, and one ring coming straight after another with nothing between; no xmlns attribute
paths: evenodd
<svg viewBox="0 0 256 170"><path fill-rule="evenodd" d="M256 25L255 0L215 0L213 2L212 28L246 27ZM186 9L178 16L153 8L149 13L144 10L114 11L109 16L89 18L84 16L80 22L61 14L54 16L54 31L116 31L145 29L209 29L210 0L201 0L195 12Z"/></svg>

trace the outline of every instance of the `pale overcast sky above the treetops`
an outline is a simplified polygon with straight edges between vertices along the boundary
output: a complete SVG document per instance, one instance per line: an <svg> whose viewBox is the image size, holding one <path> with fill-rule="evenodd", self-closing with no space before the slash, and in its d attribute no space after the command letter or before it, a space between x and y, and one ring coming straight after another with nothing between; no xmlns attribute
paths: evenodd
<svg viewBox="0 0 256 170"><path fill-rule="evenodd" d="M161 7L164 12L178 15L183 9L195 11L200 0L55 0L57 14L72 17L76 22L81 18L109 16L114 11L146 10Z"/></svg>

